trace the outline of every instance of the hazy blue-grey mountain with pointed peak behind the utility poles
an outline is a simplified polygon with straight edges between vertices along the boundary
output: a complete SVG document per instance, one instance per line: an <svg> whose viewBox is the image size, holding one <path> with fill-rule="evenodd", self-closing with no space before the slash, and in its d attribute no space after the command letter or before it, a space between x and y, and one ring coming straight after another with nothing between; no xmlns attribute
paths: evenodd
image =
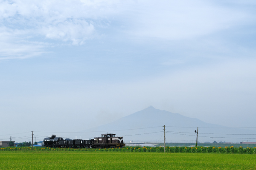
<svg viewBox="0 0 256 170"><path fill-rule="evenodd" d="M117 136L123 136L125 142L163 142L163 125L166 126L167 142L195 142L197 127L199 142L255 141L255 139L248 139L253 138L252 135L245 135L255 131L209 124L178 113L161 111L152 106L114 122L89 129L88 131L92 133L87 135L96 137L95 134L115 133ZM234 133L241 135L231 135Z"/></svg>

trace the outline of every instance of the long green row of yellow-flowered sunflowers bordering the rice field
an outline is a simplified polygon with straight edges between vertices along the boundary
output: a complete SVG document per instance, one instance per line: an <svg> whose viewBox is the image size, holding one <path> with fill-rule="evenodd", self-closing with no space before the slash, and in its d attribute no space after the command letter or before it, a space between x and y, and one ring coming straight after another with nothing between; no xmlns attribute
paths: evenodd
<svg viewBox="0 0 256 170"><path fill-rule="evenodd" d="M166 153L228 153L256 154L256 147L166 147ZM73 152L156 152L163 153L164 147L116 147L116 148L51 148L51 147L2 147L1 151L73 151Z"/></svg>

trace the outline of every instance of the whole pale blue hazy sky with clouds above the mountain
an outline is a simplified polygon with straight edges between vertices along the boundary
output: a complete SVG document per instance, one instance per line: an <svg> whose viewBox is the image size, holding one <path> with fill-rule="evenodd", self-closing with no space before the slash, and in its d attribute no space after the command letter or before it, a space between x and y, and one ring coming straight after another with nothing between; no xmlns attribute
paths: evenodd
<svg viewBox="0 0 256 170"><path fill-rule="evenodd" d="M150 105L255 127L255 9L255 0L0 0L0 139L84 130Z"/></svg>

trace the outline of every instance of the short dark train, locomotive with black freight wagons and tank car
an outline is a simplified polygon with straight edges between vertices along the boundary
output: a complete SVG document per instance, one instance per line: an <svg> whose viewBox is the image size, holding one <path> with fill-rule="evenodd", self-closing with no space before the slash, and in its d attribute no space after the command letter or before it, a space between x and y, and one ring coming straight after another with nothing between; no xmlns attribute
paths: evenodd
<svg viewBox="0 0 256 170"><path fill-rule="evenodd" d="M116 134L102 134L102 137L96 137L90 140L82 139L63 139L61 137L44 138L44 147L70 147L70 148L113 148L124 147L123 137L117 137Z"/></svg>

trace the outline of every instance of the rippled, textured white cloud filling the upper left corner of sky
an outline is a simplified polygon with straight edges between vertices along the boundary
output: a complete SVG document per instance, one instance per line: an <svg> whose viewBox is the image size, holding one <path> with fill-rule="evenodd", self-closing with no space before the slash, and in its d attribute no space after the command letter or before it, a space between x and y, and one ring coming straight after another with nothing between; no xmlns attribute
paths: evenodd
<svg viewBox="0 0 256 170"><path fill-rule="evenodd" d="M79 0L1 1L0 59L43 54L48 40L79 45L93 38L98 16L90 7Z"/></svg>

